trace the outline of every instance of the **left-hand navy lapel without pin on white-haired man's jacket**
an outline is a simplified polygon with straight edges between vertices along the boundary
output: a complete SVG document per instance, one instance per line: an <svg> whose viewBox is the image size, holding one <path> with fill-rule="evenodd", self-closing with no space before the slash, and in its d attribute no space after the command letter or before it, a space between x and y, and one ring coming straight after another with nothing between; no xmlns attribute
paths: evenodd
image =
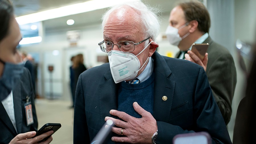
<svg viewBox="0 0 256 144"><path fill-rule="evenodd" d="M99 85L99 98L100 98L100 120L101 125L105 123L104 119L110 115L110 110L117 110L117 93L118 84L115 84L110 69L105 73L105 81ZM103 107L104 105L104 107ZM114 117L114 116L111 116ZM116 118L116 117L114 117Z"/></svg>

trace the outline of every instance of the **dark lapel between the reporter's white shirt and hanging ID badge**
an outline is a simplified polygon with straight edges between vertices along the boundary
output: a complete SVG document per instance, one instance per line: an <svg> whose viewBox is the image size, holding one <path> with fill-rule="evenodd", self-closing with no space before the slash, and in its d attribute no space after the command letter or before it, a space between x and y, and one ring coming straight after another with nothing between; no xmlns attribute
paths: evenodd
<svg viewBox="0 0 256 144"><path fill-rule="evenodd" d="M22 105L21 105L21 83L16 84L13 90L13 104L14 104L14 115L16 120L17 132L21 133L22 127Z"/></svg>

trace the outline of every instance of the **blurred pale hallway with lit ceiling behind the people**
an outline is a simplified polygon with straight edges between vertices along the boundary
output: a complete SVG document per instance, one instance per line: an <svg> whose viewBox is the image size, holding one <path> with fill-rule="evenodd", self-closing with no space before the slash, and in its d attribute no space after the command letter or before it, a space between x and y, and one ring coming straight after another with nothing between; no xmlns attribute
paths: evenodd
<svg viewBox="0 0 256 144"><path fill-rule="evenodd" d="M11 0L23 40L20 51L26 53L35 69L36 110L39 126L61 123L52 143L73 143L73 109L70 89L71 57L83 54L87 69L107 62L98 43L103 40L101 16L118 0ZM237 68L237 85L228 124L230 137L238 104L243 98L245 75L238 65L235 42L255 41L255 0L200 0L207 7L210 36L230 50ZM131 1L132 2L132 1ZM156 40L161 55L174 57L178 48L171 46L165 31L172 8L181 0L144 0L162 10L160 34ZM31 14L31 15L30 15ZM246 60L245 60L246 61ZM249 66L248 66L249 67Z"/></svg>

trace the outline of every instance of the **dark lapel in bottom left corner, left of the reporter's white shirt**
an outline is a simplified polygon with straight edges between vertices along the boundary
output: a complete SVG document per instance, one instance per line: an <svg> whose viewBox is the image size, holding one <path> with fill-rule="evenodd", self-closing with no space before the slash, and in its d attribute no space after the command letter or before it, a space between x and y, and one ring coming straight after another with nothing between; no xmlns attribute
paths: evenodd
<svg viewBox="0 0 256 144"><path fill-rule="evenodd" d="M10 129L10 131L14 134L17 135L16 130L13 126L13 123L11 122L5 107L3 106L2 102L0 102L0 119L3 121L3 123Z"/></svg>

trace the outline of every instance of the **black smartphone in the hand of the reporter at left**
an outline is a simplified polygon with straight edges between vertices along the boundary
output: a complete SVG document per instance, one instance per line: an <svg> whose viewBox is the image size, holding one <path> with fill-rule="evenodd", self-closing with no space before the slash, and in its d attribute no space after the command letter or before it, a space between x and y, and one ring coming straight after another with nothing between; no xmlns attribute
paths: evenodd
<svg viewBox="0 0 256 144"><path fill-rule="evenodd" d="M38 135L42 135L43 133L46 133L51 130L53 130L53 133L55 133L55 131L57 131L60 127L61 127L61 124L59 124L59 123L47 123L36 132L36 135L34 137L37 137ZM44 138L42 141L39 141L38 143L46 141L51 135ZM34 138L34 137L32 137L32 138Z"/></svg>

